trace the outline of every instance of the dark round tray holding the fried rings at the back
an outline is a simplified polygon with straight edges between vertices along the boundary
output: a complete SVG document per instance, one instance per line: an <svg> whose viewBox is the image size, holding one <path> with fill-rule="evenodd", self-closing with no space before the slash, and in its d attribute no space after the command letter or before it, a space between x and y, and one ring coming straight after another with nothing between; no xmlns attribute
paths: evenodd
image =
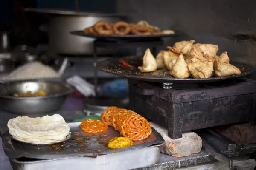
<svg viewBox="0 0 256 170"><path fill-rule="evenodd" d="M131 41L143 41L143 40L160 40L165 37L175 37L178 36L178 32L175 32L175 34L162 34L162 35L90 35L85 34L84 31L72 31L70 34L73 35L79 35L83 37L91 37L95 38L97 40L112 40L112 41L118 41L118 40L131 40Z"/></svg>

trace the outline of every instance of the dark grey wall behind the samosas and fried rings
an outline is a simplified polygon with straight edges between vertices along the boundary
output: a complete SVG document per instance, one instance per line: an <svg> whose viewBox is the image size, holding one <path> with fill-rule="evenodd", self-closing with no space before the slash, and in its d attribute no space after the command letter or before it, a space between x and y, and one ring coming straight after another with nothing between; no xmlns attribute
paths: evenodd
<svg viewBox="0 0 256 170"><path fill-rule="evenodd" d="M183 32L165 46L194 39L218 45L219 54L227 51L231 60L256 64L256 0L117 0L117 11L129 22ZM256 79L256 71L250 78Z"/></svg>

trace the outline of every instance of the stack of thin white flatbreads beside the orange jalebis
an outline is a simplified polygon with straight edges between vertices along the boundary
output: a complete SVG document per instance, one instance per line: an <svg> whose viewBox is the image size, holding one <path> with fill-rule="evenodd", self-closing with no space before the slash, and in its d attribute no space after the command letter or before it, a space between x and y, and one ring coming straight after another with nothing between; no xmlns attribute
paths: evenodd
<svg viewBox="0 0 256 170"><path fill-rule="evenodd" d="M7 124L9 134L15 139L31 143L61 142L70 131L70 127L59 114L30 118L18 116Z"/></svg>

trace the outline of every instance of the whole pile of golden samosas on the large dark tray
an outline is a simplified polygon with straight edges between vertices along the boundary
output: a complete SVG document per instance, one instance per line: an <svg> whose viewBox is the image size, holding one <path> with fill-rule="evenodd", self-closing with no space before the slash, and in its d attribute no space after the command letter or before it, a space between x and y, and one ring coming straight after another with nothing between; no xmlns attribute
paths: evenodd
<svg viewBox="0 0 256 170"><path fill-rule="evenodd" d="M225 77L241 74L241 71L229 63L227 52L217 56L218 45L194 44L195 40L176 42L168 51L160 51L155 58L149 49L145 51L141 72L167 69L176 78L195 79Z"/></svg>

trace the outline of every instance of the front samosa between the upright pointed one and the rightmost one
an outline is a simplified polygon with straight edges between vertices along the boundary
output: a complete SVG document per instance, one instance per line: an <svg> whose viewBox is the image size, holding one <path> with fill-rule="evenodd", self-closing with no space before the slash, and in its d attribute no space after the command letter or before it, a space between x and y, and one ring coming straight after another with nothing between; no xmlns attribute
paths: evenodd
<svg viewBox="0 0 256 170"><path fill-rule="evenodd" d="M214 73L213 61L196 61L188 65L189 71L195 79L210 78Z"/></svg>

